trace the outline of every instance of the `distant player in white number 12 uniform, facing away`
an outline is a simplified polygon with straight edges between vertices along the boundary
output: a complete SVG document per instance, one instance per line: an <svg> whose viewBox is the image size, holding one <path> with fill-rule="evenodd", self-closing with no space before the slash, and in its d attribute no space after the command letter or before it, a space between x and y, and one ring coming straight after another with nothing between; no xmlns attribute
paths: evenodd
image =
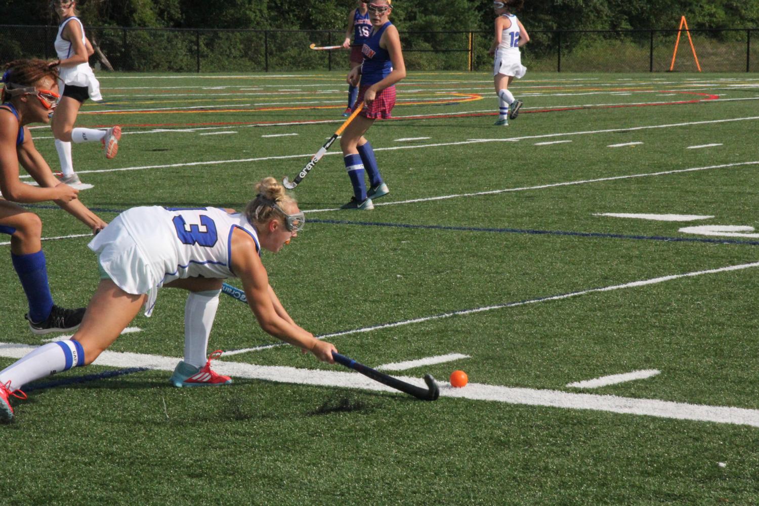
<svg viewBox="0 0 759 506"><path fill-rule="evenodd" d="M498 121L495 124L499 126L508 125L509 119L516 119L522 106L521 100L515 99L509 91L509 84L515 77L521 79L527 72L527 68L521 64L519 48L530 42L530 36L517 17L512 14L512 11L521 8L523 3L524 0L493 2L493 9L498 17L496 17L496 34L490 46L490 55L495 56L493 84L499 99Z"/></svg>

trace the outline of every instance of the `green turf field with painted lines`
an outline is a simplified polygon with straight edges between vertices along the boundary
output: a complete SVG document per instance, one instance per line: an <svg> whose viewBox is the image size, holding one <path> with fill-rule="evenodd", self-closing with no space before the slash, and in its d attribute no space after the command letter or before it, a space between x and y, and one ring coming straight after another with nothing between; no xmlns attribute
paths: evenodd
<svg viewBox="0 0 759 506"><path fill-rule="evenodd" d="M241 208L298 174L347 95L336 72L100 77L78 124L121 124L121 147L74 145L74 165L106 221ZM269 346L223 296L209 349L234 384L173 388L185 294L165 289L102 361L14 404L0 504L759 504L759 77L528 74L512 91L524 108L494 127L490 74L409 74L367 134L389 196L339 211L335 144L294 190L306 228L263 256L296 322L369 366L421 360L387 372L431 373L438 401ZM57 170L49 127L33 137ZM86 305L87 229L30 207L56 303ZM44 341L0 262L2 368Z"/></svg>

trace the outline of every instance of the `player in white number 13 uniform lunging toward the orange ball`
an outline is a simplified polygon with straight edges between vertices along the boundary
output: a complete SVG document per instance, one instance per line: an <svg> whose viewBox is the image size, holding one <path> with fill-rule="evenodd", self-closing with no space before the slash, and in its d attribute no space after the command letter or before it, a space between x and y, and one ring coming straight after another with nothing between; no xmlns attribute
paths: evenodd
<svg viewBox="0 0 759 506"><path fill-rule="evenodd" d="M334 363L335 346L298 326L276 296L260 259L260 250L277 252L298 236L303 213L274 178L260 181L259 194L243 213L206 207L165 209L138 207L118 215L90 248L99 254L100 284L87 313L66 341L44 344L0 371L0 420L14 416L8 397L25 398L27 382L86 366L118 338L140 307L153 310L161 286L190 291L184 308L185 353L205 348L216 316L224 278L240 278L248 305L264 331L319 360ZM211 358L215 358L212 355ZM230 382L185 355L172 375L177 386Z"/></svg>

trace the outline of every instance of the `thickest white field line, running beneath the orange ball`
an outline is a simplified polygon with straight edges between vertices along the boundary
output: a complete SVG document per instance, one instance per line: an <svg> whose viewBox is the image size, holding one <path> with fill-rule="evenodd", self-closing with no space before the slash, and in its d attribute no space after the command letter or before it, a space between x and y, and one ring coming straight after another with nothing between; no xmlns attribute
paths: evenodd
<svg viewBox="0 0 759 506"><path fill-rule="evenodd" d="M20 358L34 347L25 344L0 343L0 356ZM119 353L104 351L94 364L108 367L146 367L171 372L178 363L175 357L159 355ZM250 363L216 360L214 369L221 374L246 379L260 379L269 382L322 387L357 388L373 391L398 391L375 382L357 372L321 369L298 369L287 366L257 366ZM398 379L427 388L420 378L398 376ZM512 388L499 385L469 383L465 388L453 388L447 382L439 382L440 397L464 398L476 401L502 402L528 406L557 407L572 410L594 410L610 413L624 413L638 416L657 416L675 420L697 422L729 423L759 427L759 410L742 407L708 406L682 402L659 401L657 399L636 399L616 395L578 394L537 388ZM245 388L245 387L242 387ZM71 395L85 395L83 391L71 391Z"/></svg>

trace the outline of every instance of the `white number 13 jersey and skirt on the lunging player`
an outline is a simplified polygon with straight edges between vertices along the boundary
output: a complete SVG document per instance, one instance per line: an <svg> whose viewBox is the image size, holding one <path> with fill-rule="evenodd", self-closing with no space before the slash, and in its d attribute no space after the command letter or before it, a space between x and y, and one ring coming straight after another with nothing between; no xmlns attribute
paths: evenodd
<svg viewBox="0 0 759 506"><path fill-rule="evenodd" d="M256 228L241 213L203 207L134 207L122 212L90 241L100 266L128 294L148 294L150 314L158 288L178 278L234 278L232 232L242 230L260 244Z"/></svg>

